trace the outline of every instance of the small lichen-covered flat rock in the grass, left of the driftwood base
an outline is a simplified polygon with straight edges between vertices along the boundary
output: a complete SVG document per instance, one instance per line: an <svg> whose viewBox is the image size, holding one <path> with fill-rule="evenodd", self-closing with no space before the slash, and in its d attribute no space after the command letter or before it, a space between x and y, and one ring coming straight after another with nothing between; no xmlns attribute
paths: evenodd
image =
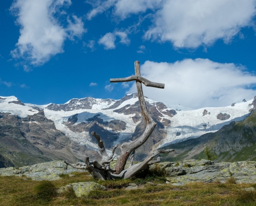
<svg viewBox="0 0 256 206"><path fill-rule="evenodd" d="M88 196L88 194L93 190L106 190L104 186L96 182L77 182L60 187L57 190L57 193L62 194L69 192L71 188L77 197Z"/></svg>

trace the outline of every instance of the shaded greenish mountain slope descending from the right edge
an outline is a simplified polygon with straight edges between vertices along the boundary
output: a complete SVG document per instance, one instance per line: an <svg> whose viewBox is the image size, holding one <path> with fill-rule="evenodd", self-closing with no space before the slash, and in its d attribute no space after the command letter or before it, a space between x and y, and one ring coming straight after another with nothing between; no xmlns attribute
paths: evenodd
<svg viewBox="0 0 256 206"><path fill-rule="evenodd" d="M256 100L254 100L256 101ZM256 160L256 110L240 122L231 122L217 132L206 133L197 139L186 140L164 147L175 149L174 157L164 159L179 161L191 158L206 158L204 149L208 146L216 161Z"/></svg>

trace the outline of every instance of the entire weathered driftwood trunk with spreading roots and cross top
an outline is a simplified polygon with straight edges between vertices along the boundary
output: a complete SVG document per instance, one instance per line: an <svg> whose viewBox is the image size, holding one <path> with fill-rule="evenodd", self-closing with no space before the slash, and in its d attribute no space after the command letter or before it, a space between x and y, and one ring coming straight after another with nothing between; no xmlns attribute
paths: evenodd
<svg viewBox="0 0 256 206"><path fill-rule="evenodd" d="M134 155L135 149L139 148L147 141L147 139L149 138L150 134L153 132L156 126L156 123L153 121L152 117L150 117L147 111L141 83L144 83L147 87L155 87L155 88L161 88L161 89L164 88L164 84L152 82L140 76L141 74L140 74L139 61L135 61L134 65L135 65L134 76L130 76L127 78L110 79L110 82L125 82L125 81L133 81L133 80L136 81L137 93L138 93L138 98L141 106L141 112L146 124L146 129L143 132L143 134L140 136L140 138L132 142L125 142L121 145L121 152L117 160L115 169L110 168L110 162L113 161L114 158L117 156L115 155L115 149L118 147L118 145L115 145L113 147L111 155L108 155L104 147L104 143L102 142L100 136L96 132L92 132L92 135L98 141L98 149L102 157L102 160L100 163L97 161L89 162L88 157L85 158L84 163L78 162L76 165L68 163L67 161L64 161L67 165L70 165L71 167L87 169L95 179L111 180L116 178L123 178L123 179L130 178L131 176L134 176L135 174L137 174L139 171L147 169L148 165L152 165L157 162L160 162L160 157L158 157L157 160L153 160L155 156L159 155L160 153L168 153L168 152L174 151L173 149L152 151L149 153L149 155L143 162L133 165L133 155ZM127 169L124 169L129 156L130 156L130 165Z"/></svg>

